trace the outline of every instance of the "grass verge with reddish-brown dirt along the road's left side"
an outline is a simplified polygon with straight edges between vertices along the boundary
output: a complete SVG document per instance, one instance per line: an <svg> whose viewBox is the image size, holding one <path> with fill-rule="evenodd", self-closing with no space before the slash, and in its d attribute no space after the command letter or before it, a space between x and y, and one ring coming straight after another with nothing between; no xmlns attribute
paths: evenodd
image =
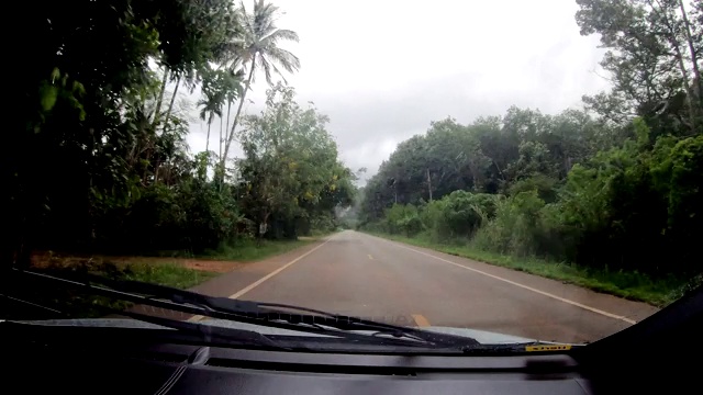
<svg viewBox="0 0 703 395"><path fill-rule="evenodd" d="M189 289L219 275L222 271L227 271L219 270L220 272L216 272L217 269L223 268L215 268L214 263L223 263L231 270L230 264L261 260L288 252L317 241L324 236L326 235L301 237L299 240L245 240L234 246L223 246L217 250L207 251L197 257L190 255L189 258L203 259L197 262L193 262L192 259L183 259L182 252L169 253L170 258L75 257L47 252L33 259L33 269L60 278L80 279L82 274L94 274L112 280L142 281L177 289ZM215 260L230 262L216 262ZM65 313L59 315L60 317L66 315L101 317L110 314L109 309L123 311L133 305L129 302L97 296L80 290L59 289L52 286L52 284L16 284L13 291L15 295L22 296L20 297L22 300ZM3 305L0 302L0 318L56 318L56 316L42 314L46 312L37 312L27 304Z"/></svg>

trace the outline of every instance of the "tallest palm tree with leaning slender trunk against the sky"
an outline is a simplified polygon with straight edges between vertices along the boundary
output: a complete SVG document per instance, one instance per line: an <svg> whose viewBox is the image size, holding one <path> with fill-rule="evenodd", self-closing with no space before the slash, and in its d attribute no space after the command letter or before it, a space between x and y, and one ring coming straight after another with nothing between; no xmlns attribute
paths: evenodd
<svg viewBox="0 0 703 395"><path fill-rule="evenodd" d="M252 13L247 13L244 3L241 4L241 11L243 13L244 32L241 41L231 43L232 58L242 59L242 61L248 66L249 77L239 98L239 105L234 115L232 129L224 146L224 154L220 159L220 166L222 168L224 168L230 146L234 139L237 121L242 114L242 106L244 105L246 93L249 88L252 88L257 67L264 69L266 81L269 84L272 84L271 77L274 72L281 75L279 67L288 72L297 71L300 68L300 59L298 59L295 55L278 47L278 43L281 41L298 42L299 40L298 33L276 26L278 7L271 3L265 3L264 0L255 0ZM283 78L283 81L284 80Z"/></svg>

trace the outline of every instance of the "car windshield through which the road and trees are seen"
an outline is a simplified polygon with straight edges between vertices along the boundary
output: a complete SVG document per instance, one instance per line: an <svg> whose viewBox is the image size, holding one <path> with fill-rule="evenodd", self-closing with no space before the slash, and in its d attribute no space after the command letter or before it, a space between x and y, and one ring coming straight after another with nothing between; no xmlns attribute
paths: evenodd
<svg viewBox="0 0 703 395"><path fill-rule="evenodd" d="M2 267L76 283L0 318L584 345L702 282L700 1L26 7Z"/></svg>

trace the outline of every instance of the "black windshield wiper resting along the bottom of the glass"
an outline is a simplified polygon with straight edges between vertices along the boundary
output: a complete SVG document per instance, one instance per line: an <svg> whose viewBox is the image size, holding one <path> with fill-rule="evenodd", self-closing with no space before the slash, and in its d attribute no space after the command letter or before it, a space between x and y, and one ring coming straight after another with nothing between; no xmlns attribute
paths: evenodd
<svg viewBox="0 0 703 395"><path fill-rule="evenodd" d="M83 274L82 279L79 280L69 280L34 271L13 270L24 275L31 275L37 280L51 281L66 286L89 289L96 294L112 298L212 318L383 345L446 348L454 351L469 350L480 346L479 342L472 338L429 332L411 327L377 323L300 306L205 296L196 292L182 291L164 285L138 281L109 280L91 274ZM100 285L93 285L91 283ZM293 314L291 312L303 312L305 314ZM120 314L134 316L137 319L155 318L134 312L123 312ZM138 315L138 317L135 315ZM167 318L159 319L172 320ZM198 324L189 323L189 325ZM373 334L357 332L361 330L372 331Z"/></svg>

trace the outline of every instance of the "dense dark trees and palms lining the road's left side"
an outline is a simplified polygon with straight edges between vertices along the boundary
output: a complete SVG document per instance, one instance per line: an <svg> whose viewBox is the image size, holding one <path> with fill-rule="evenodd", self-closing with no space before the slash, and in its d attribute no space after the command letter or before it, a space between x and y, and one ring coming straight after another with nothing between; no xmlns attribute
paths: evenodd
<svg viewBox="0 0 703 395"><path fill-rule="evenodd" d="M191 120L179 88L201 90L208 134L225 117L222 131L234 134L239 112L231 123L230 110L236 101L242 108L255 71L271 81L272 72L299 67L277 47L298 37L276 26L276 7L260 0L246 10L230 0L19 7L19 33L34 40L9 50L19 60L11 66L2 158L3 262L26 262L37 248L202 251L335 225L335 207L354 193L352 174L337 160L324 116L300 110L292 90L275 87L283 98L271 93L267 110L243 123L245 158L227 160L231 135L220 136L216 153L193 155L186 144ZM276 117L281 109L287 116ZM271 165L283 159L287 169ZM268 194L278 176L291 189Z"/></svg>

